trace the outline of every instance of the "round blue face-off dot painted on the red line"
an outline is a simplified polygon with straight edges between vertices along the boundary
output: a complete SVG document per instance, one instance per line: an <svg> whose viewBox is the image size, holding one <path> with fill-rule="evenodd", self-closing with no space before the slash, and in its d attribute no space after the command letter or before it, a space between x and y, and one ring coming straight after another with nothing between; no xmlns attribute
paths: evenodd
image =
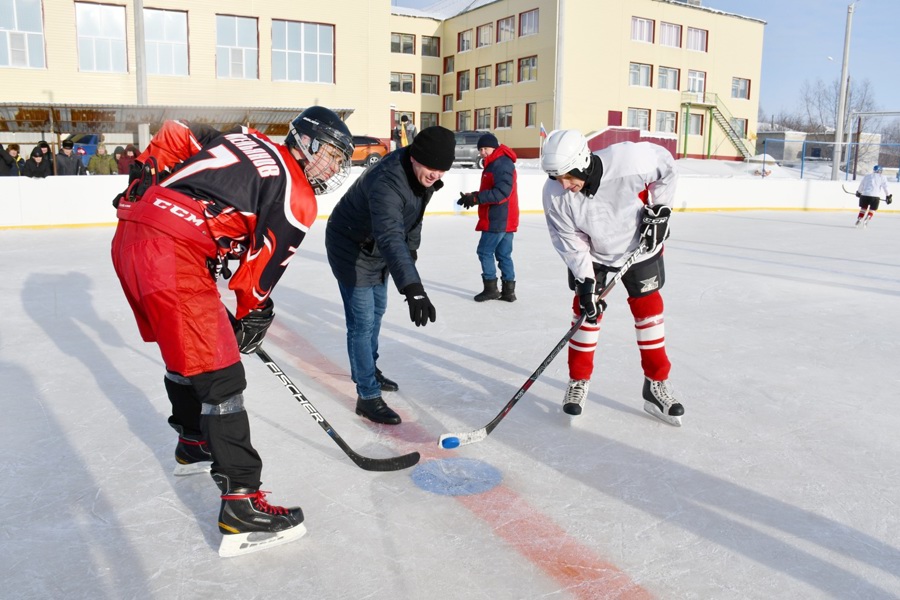
<svg viewBox="0 0 900 600"><path fill-rule="evenodd" d="M441 458L421 463L412 472L417 486L441 496L472 496L497 487L500 471L472 458Z"/></svg>

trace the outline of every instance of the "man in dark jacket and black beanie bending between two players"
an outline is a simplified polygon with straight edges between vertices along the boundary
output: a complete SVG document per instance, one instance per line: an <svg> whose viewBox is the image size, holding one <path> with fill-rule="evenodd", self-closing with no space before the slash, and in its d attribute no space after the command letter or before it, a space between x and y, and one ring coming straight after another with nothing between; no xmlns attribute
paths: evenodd
<svg viewBox="0 0 900 600"><path fill-rule="evenodd" d="M387 308L387 277L409 304L417 326L437 313L422 286L415 261L422 218L453 164L456 141L444 127L427 127L412 145L391 152L360 175L340 199L325 228L325 250L344 303L350 374L356 383L356 414L396 425L381 397L399 386L378 369L378 336Z"/></svg>

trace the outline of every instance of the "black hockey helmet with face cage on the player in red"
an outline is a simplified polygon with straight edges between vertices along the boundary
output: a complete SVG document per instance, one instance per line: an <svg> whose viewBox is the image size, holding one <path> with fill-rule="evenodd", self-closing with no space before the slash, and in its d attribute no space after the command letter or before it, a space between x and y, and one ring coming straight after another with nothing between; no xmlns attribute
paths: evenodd
<svg viewBox="0 0 900 600"><path fill-rule="evenodd" d="M307 173L307 179L316 194L332 192L347 179L353 156L353 136L334 111L324 106L310 106L291 121L285 145L297 148L307 161L314 162L315 155L323 144L332 146L340 153L341 164L337 173L324 179Z"/></svg>

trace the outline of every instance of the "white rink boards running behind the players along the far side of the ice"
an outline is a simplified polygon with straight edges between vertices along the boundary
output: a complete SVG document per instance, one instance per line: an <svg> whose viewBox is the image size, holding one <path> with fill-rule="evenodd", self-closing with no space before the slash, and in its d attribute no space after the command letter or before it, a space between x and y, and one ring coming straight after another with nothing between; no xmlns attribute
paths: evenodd
<svg viewBox="0 0 900 600"><path fill-rule="evenodd" d="M362 173L354 168L349 183ZM541 189L546 176L537 168L519 169L522 211L541 212ZM476 211L456 205L460 192L478 189L481 171L454 168L444 176L444 189L435 194L428 214L466 214ZM112 224L112 199L125 188L124 175L88 177L0 177L0 228L56 227ZM345 184L346 189L349 183ZM857 182L847 182L855 190ZM893 186L892 186L893 187ZM340 199L340 190L319 196L319 216L327 217ZM778 178L717 178L682 176L676 210L853 210L856 198L841 189L840 181ZM882 205L882 209L887 207Z"/></svg>

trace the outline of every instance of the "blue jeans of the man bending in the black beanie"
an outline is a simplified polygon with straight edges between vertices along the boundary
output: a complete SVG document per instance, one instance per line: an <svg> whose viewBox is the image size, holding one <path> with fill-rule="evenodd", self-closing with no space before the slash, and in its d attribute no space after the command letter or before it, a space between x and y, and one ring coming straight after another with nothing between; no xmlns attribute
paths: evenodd
<svg viewBox="0 0 900 600"><path fill-rule="evenodd" d="M375 363L378 361L381 317L387 309L387 280L380 285L365 287L348 286L339 281L338 287L347 319L350 377L359 397L372 400L381 396L381 385L375 379Z"/></svg>

